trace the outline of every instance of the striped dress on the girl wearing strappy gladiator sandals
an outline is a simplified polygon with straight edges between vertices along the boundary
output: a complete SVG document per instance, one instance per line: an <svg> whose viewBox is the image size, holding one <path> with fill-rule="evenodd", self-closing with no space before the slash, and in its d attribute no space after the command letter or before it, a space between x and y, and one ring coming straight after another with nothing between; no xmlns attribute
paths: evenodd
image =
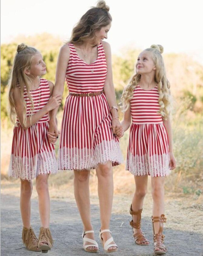
<svg viewBox="0 0 203 256"><path fill-rule="evenodd" d="M152 177L169 174L169 142L158 102L157 86L144 90L139 85L131 99L132 125L126 169L133 175Z"/></svg>

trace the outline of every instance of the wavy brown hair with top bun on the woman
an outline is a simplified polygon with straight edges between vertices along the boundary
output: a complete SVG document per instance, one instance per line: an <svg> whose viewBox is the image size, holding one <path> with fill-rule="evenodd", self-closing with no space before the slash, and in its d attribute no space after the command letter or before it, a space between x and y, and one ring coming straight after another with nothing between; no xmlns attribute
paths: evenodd
<svg viewBox="0 0 203 256"><path fill-rule="evenodd" d="M99 1L96 7L89 9L73 28L69 42L82 44L86 40L95 41L95 32L112 21L109 9L105 1ZM96 45L96 41L93 45Z"/></svg>

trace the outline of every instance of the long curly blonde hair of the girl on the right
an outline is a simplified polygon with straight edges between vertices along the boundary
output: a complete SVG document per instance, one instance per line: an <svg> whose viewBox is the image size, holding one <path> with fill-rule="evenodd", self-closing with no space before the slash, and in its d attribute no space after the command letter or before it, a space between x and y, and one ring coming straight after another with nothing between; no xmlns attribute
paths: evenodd
<svg viewBox="0 0 203 256"><path fill-rule="evenodd" d="M159 113L162 115L163 119L166 119L170 114L170 83L166 78L165 64L162 58L163 47L161 45L153 44L150 48L145 49L145 51L151 52L154 65L156 67L156 72L154 76L154 81L157 83L159 91ZM133 90L139 84L141 75L136 73L131 78L128 86L125 87L121 97L122 109L126 111L130 105L130 101L133 98Z"/></svg>

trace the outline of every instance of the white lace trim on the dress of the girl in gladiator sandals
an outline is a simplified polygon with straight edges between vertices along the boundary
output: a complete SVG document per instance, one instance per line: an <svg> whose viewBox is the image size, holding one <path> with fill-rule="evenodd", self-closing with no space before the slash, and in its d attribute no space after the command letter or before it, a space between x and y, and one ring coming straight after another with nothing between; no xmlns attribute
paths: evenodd
<svg viewBox="0 0 203 256"><path fill-rule="evenodd" d="M137 176L168 176L170 174L169 160L169 154L155 154L148 157L148 155L133 156L133 154L129 153L126 161L126 170Z"/></svg>

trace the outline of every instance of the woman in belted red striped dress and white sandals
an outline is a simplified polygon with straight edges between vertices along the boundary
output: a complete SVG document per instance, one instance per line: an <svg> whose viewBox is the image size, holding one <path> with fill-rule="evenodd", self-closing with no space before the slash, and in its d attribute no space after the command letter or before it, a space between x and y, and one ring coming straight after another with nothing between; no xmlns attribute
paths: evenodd
<svg viewBox="0 0 203 256"><path fill-rule="evenodd" d="M53 96L69 88L61 126L58 168L74 170L74 193L84 225L83 248L97 252L90 219L90 169L96 169L100 204L100 239L107 252L118 249L109 230L113 201L113 170L122 161L115 128L118 119L110 45L103 42L111 26L109 7L99 1L79 20L68 44L61 47ZM52 111L49 140L58 137L57 109Z"/></svg>

